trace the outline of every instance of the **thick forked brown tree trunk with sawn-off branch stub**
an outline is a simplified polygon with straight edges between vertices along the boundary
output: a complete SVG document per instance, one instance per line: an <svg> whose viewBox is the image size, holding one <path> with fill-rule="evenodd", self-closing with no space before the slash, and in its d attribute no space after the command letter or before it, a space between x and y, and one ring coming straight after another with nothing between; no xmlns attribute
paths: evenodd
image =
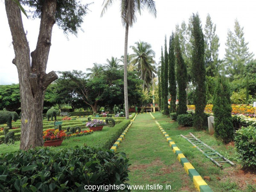
<svg viewBox="0 0 256 192"><path fill-rule="evenodd" d="M52 26L55 23L56 0L44 1L37 46L35 51L31 52L32 62L20 9L12 0L5 0L5 5L15 51L12 63L17 67L20 83L22 111L20 149L27 150L44 144L42 137L44 94L48 85L58 79L53 71L46 74Z"/></svg>

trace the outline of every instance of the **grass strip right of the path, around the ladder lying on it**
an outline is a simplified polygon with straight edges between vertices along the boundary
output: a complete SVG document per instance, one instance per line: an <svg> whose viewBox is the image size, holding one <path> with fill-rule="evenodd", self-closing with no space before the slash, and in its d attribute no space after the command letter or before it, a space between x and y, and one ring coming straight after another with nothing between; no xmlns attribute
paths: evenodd
<svg viewBox="0 0 256 192"><path fill-rule="evenodd" d="M235 148L233 146L224 145L220 140L217 140L214 135L210 135L207 131L195 131L194 128L184 128L179 127L177 122L173 122L167 116L163 116L161 113L155 113L154 117L163 127L167 134L172 138L178 148L183 152L189 162L195 167L198 173L204 177L211 177L210 181L207 181L207 184L215 192L255 192L256 190L252 189L253 186L252 179L249 179L251 182L246 183L243 186L239 186L239 169L241 166L239 162L236 161ZM206 143L210 147L214 148L216 151L227 157L229 160L236 163L236 167L232 167L228 163L223 163L223 168L221 169L216 166L212 161L210 161L204 154L202 154L197 148L192 147L193 145L185 140L182 135L188 135L189 132L195 135L202 142ZM234 176L234 175L237 175ZM242 176L242 175L241 175ZM217 177L219 177L218 180ZM247 181L246 181L247 182Z"/></svg>

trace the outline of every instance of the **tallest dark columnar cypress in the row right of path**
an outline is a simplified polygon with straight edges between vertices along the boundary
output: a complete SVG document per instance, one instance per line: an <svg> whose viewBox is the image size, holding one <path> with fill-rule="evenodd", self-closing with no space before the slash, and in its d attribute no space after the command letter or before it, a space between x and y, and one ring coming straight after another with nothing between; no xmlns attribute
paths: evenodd
<svg viewBox="0 0 256 192"><path fill-rule="evenodd" d="M194 104L194 128L203 129L204 108L206 106L206 70L204 65L204 34L198 14L192 15L192 79L195 85Z"/></svg>

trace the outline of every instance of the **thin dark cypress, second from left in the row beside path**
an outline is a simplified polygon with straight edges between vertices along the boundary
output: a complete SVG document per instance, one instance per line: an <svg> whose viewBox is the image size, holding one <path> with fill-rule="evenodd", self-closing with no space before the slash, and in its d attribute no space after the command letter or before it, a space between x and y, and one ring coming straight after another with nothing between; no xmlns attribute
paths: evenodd
<svg viewBox="0 0 256 192"><path fill-rule="evenodd" d="M163 110L165 115L169 115L168 110L168 52L167 52L167 42L166 36L164 41L164 73L163 73Z"/></svg>

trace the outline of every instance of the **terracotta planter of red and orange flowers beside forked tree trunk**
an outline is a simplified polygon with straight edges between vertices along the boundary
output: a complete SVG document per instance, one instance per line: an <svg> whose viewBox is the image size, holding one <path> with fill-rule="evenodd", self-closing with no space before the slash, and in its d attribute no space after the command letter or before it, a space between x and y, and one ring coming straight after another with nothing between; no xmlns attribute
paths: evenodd
<svg viewBox="0 0 256 192"><path fill-rule="evenodd" d="M60 146L65 137L67 137L64 131L58 129L48 129L43 132L44 146Z"/></svg>

